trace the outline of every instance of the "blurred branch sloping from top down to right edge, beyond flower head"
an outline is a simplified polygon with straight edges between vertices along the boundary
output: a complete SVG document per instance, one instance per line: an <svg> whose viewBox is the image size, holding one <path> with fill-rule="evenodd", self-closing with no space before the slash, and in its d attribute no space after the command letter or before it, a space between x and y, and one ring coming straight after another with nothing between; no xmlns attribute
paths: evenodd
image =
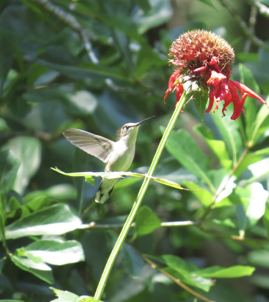
<svg viewBox="0 0 269 302"><path fill-rule="evenodd" d="M267 45L266 43L264 43L263 40L259 39L258 37L256 37L254 34L251 33L251 30L248 28L246 22L236 13L234 8L228 2L226 2L226 0L219 0L219 2L221 2L221 4L225 8L227 8L229 13L235 18L235 20L238 21L238 24L240 25L244 34L249 38L249 40L251 40L253 44L263 48L266 51L269 51L269 45Z"/></svg>

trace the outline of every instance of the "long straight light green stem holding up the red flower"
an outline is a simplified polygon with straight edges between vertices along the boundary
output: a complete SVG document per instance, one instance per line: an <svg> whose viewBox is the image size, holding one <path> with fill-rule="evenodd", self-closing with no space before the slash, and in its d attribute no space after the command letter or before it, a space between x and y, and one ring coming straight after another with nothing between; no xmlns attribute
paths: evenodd
<svg viewBox="0 0 269 302"><path fill-rule="evenodd" d="M184 92L182 97L180 98L180 101L177 104L177 107L176 107L176 109L175 109L175 111L174 111L174 113L173 113L173 115L172 115L165 131L164 131L164 135L163 135L163 137L160 141L160 144L157 148L157 151L154 155L151 166L149 167L149 170L148 170L148 173L147 173L148 176L152 176L152 174L153 174L153 172L154 172L154 170L155 170L155 168L156 168L156 166L159 162L160 156L163 152L163 149L164 149L165 143L167 141L167 138L168 138L171 130L173 129L174 124L177 120L177 117L180 113L180 110L182 109L183 105L186 103L185 95L186 94ZM124 243L124 240L125 240L128 232L131 228L131 224L134 221L134 217L135 217L135 215L136 215L136 213L137 213L137 211L140 207L140 204L141 204L141 202L144 198L144 195L147 191L148 185L149 185L150 180L151 180L151 178L148 177L148 176L146 176L145 179L144 179L144 182L143 182L143 184L140 188L140 191L137 195L136 201L134 202L134 205L131 209L131 212L130 212L128 218L126 219L126 222L125 222L125 224L122 228L122 231L121 231L120 235L118 236L117 242L115 243L115 246L114 246L114 248L113 248L113 250L112 250L112 252L109 256L109 259L108 259L108 261L105 265L104 271L102 273L101 279L99 281L99 284L97 286L97 289L96 289L96 292L95 292L95 295L94 295L94 298L97 299L97 300L100 300L100 298L102 296L102 293L103 293L103 290L105 288L105 284L106 284L106 281L109 277L112 266L113 266L113 264L114 264L114 262L115 262L115 260L118 256L118 253L119 253L119 251L122 247L122 244Z"/></svg>

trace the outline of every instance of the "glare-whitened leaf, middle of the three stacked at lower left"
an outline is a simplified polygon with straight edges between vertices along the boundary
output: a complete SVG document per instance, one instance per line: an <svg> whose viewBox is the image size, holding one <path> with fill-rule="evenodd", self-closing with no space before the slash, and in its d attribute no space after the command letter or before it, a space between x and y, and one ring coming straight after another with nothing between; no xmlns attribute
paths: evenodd
<svg viewBox="0 0 269 302"><path fill-rule="evenodd" d="M24 247L26 256L40 257L53 265L64 265L84 261L81 244L76 240L37 240Z"/></svg>

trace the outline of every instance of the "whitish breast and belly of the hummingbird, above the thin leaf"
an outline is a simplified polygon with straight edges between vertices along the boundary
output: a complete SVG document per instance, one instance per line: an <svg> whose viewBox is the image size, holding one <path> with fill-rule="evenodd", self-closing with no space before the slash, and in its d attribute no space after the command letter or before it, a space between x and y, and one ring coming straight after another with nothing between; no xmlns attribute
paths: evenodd
<svg viewBox="0 0 269 302"><path fill-rule="evenodd" d="M128 146L125 141L115 142L105 171L127 171L134 159L135 145Z"/></svg>

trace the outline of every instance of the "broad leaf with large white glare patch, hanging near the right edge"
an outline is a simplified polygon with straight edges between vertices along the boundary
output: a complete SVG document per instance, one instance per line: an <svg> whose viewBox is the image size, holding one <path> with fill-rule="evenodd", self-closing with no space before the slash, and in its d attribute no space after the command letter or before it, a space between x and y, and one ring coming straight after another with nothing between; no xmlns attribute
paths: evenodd
<svg viewBox="0 0 269 302"><path fill-rule="evenodd" d="M245 188L236 187L235 192L241 200L241 204L236 205L239 227L240 230L245 231L246 228L254 226L263 216L269 193L258 182Z"/></svg>

